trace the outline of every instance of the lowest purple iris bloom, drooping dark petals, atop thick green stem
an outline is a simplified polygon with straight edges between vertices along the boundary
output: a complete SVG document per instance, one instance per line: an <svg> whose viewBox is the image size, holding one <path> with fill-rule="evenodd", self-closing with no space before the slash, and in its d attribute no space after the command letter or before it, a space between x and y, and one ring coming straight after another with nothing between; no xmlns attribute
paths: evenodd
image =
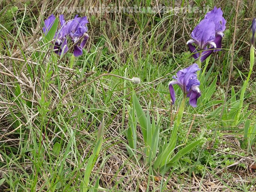
<svg viewBox="0 0 256 192"><path fill-rule="evenodd" d="M189 97L189 104L192 107L196 107L197 99L201 96L199 90L200 82L197 79L197 71L201 70L196 63L192 64L188 68L178 71L177 77L173 76L175 80L169 83L169 90L172 103L175 102L175 90L174 84L178 84L183 93Z"/></svg>

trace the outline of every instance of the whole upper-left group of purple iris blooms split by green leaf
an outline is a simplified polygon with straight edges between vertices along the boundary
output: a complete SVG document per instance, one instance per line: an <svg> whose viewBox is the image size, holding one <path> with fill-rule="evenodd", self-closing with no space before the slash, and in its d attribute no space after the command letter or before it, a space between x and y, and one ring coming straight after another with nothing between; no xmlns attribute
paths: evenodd
<svg viewBox="0 0 256 192"><path fill-rule="evenodd" d="M46 35L54 24L55 17L52 14L44 21L43 32ZM88 28L87 24L89 23L87 17L78 17L76 15L73 20L66 22L64 16L59 16L60 20L60 29L55 32L55 43L54 43L54 52L58 55L64 54L68 51L67 37L70 37L74 45L74 56L80 56L83 54L82 48L84 48L89 35L87 34ZM83 37L83 38L82 38ZM80 39L82 40L80 41Z"/></svg>

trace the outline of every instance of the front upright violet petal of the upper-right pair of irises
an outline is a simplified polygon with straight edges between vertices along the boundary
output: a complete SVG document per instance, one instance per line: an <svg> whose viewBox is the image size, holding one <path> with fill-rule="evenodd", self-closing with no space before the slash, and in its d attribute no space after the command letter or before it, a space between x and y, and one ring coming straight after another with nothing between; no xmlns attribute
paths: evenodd
<svg viewBox="0 0 256 192"><path fill-rule="evenodd" d="M210 19L204 19L195 27L191 37L199 46L200 50L215 39L215 24Z"/></svg>

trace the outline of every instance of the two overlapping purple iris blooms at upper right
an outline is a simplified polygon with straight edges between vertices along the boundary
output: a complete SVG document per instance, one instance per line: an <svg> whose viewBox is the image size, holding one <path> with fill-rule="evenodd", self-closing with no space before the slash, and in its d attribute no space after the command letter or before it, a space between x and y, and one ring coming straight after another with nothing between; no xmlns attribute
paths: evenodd
<svg viewBox="0 0 256 192"><path fill-rule="evenodd" d="M226 20L222 14L221 8L214 7L192 31L192 39L188 40L187 45L195 59L200 57L200 60L204 61L213 51L221 49L223 31L226 29Z"/></svg>

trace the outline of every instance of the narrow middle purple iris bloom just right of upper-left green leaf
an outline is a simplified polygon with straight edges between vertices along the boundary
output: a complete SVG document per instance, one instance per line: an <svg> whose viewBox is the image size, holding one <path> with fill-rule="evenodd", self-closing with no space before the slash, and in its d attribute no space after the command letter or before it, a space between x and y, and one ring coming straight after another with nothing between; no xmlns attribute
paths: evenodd
<svg viewBox="0 0 256 192"><path fill-rule="evenodd" d="M62 51L65 54L68 51L67 46L67 26L65 24L64 16L60 15L60 30L55 34L55 44L54 44L54 52L58 55L61 55ZM63 50L64 48L64 50Z"/></svg>

